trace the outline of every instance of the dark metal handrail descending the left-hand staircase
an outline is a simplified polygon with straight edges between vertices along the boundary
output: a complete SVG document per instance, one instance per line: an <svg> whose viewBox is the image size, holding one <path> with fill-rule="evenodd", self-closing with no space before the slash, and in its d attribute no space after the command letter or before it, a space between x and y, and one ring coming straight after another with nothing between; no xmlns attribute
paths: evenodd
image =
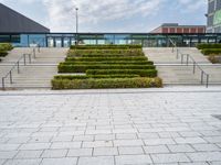
<svg viewBox="0 0 221 165"><path fill-rule="evenodd" d="M39 52L40 52L40 47L39 47ZM13 84L13 77L12 77L12 72L17 68L18 74L20 74L20 63L21 61L23 61L23 65L27 65L27 56L29 57L29 64L31 64L31 56L33 55L33 58L35 58L36 53L35 53L35 48L32 50L31 53L29 54L23 54L15 63L14 65L11 67L11 69L1 78L2 80L2 90L6 90L6 79L10 76L10 84Z"/></svg>

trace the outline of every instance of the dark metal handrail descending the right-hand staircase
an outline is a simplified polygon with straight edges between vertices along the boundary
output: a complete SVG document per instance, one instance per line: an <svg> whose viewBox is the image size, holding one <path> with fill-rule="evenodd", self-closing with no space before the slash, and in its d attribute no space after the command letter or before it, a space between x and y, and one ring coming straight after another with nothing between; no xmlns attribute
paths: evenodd
<svg viewBox="0 0 221 165"><path fill-rule="evenodd" d="M181 55L181 64L183 64L183 57L187 56L187 62L186 65L189 66L189 59L192 61L193 63L193 74L196 74L196 67L198 67L201 72L201 85L203 85L203 79L204 76L207 77L207 81L206 81L206 87L209 87L209 79L210 79L210 75L207 74L201 67L200 65L194 61L194 58L190 55L190 54L182 54L179 48L177 47L176 43L173 43L173 41L171 38L169 38L170 43L172 44L172 53L175 53L176 50L176 54L177 54L177 59L179 59L179 55Z"/></svg>

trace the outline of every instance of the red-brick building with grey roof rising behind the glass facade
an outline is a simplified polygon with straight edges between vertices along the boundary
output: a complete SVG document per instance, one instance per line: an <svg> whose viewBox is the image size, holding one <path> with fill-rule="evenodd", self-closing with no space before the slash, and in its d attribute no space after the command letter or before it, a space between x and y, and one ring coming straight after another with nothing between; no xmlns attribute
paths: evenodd
<svg viewBox="0 0 221 165"><path fill-rule="evenodd" d="M198 33L206 33L206 26L204 25L179 25L178 23L164 23L162 25L155 29L150 33L198 34Z"/></svg>

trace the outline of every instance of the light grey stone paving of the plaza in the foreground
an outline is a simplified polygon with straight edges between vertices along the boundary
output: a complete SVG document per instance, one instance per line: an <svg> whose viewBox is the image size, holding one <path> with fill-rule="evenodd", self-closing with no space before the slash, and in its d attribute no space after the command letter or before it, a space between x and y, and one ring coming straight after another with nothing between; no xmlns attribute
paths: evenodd
<svg viewBox="0 0 221 165"><path fill-rule="evenodd" d="M0 165L221 165L220 91L97 91L0 92Z"/></svg>

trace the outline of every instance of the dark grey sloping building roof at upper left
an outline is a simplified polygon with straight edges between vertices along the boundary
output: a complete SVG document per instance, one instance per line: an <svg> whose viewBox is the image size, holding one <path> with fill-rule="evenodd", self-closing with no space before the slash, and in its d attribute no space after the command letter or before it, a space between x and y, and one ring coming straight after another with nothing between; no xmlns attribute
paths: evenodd
<svg viewBox="0 0 221 165"><path fill-rule="evenodd" d="M0 3L0 33L48 32L48 28Z"/></svg>

